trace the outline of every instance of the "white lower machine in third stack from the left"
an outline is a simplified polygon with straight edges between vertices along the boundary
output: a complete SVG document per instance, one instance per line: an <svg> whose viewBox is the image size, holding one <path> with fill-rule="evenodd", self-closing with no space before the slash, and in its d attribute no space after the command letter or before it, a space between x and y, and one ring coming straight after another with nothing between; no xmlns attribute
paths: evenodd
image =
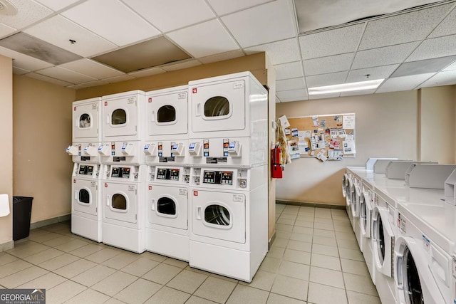
<svg viewBox="0 0 456 304"><path fill-rule="evenodd" d="M189 261L190 167L147 166L147 251Z"/></svg>

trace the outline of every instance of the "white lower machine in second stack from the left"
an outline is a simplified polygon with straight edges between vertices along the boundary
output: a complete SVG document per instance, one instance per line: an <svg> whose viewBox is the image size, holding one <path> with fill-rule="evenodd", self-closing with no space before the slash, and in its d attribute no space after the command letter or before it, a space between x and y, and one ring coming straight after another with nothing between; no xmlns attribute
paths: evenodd
<svg viewBox="0 0 456 304"><path fill-rule="evenodd" d="M145 176L147 167L106 164L103 168L103 243L145 251Z"/></svg>

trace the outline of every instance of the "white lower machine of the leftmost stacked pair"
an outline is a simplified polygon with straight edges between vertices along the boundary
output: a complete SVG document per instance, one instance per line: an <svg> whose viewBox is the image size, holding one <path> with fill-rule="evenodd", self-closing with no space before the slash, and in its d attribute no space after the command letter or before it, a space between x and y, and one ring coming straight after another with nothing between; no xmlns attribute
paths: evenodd
<svg viewBox="0 0 456 304"><path fill-rule="evenodd" d="M102 241L101 164L76 162L71 184L71 232L93 241Z"/></svg>

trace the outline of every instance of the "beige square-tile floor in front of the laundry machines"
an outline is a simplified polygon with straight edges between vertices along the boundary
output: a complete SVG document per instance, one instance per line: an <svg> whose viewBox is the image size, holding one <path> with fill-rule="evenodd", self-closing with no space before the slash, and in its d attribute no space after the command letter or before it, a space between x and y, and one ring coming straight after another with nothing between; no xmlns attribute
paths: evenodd
<svg viewBox="0 0 456 304"><path fill-rule="evenodd" d="M380 303L345 210L277 204L276 239L252 283L34 229L0 253L0 288L46 288L46 303Z"/></svg>

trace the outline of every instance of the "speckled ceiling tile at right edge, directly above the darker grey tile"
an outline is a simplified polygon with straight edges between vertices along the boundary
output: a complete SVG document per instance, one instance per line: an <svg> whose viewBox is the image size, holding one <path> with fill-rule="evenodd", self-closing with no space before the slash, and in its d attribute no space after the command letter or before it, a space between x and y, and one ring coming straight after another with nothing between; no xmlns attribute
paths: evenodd
<svg viewBox="0 0 456 304"><path fill-rule="evenodd" d="M456 35L426 39L406 61L419 61L452 55L456 55Z"/></svg>

